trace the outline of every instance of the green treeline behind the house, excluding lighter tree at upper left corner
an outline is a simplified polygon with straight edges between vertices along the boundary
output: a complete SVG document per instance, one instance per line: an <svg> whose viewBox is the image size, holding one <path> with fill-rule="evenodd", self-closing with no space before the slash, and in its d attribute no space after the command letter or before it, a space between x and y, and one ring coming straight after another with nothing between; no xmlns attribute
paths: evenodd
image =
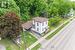
<svg viewBox="0 0 75 50"><path fill-rule="evenodd" d="M23 21L32 17L64 17L75 9L75 4L69 0L15 0L20 8L20 15Z"/></svg>

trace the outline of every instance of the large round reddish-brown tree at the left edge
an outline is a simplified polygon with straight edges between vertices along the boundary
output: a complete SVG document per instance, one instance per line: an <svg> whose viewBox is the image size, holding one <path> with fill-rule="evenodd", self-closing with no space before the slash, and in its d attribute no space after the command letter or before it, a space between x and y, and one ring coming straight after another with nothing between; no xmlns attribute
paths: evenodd
<svg viewBox="0 0 75 50"><path fill-rule="evenodd" d="M9 12L0 17L0 36L2 38L16 38L20 31L20 19L15 13Z"/></svg>

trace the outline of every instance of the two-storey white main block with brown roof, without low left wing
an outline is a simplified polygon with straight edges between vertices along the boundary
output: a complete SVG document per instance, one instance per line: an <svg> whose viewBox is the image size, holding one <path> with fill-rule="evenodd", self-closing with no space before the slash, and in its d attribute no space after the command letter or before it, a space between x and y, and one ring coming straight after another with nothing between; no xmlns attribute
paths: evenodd
<svg viewBox="0 0 75 50"><path fill-rule="evenodd" d="M48 29L48 19L36 17L32 22L32 30L38 33L43 33Z"/></svg>

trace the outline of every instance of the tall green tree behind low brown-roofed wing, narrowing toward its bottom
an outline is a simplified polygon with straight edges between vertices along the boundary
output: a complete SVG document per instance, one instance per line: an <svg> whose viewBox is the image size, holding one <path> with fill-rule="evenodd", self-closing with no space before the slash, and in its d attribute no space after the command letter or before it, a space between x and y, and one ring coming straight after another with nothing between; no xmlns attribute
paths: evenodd
<svg viewBox="0 0 75 50"><path fill-rule="evenodd" d="M16 4L20 8L20 15L23 21L30 19L29 10L34 0L15 0Z"/></svg>

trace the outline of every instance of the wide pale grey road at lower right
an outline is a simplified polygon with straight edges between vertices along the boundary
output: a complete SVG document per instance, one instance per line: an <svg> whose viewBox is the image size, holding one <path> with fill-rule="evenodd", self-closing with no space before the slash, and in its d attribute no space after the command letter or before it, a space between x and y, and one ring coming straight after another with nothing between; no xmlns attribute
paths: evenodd
<svg viewBox="0 0 75 50"><path fill-rule="evenodd" d="M75 20L71 21L39 50L75 50Z"/></svg>

